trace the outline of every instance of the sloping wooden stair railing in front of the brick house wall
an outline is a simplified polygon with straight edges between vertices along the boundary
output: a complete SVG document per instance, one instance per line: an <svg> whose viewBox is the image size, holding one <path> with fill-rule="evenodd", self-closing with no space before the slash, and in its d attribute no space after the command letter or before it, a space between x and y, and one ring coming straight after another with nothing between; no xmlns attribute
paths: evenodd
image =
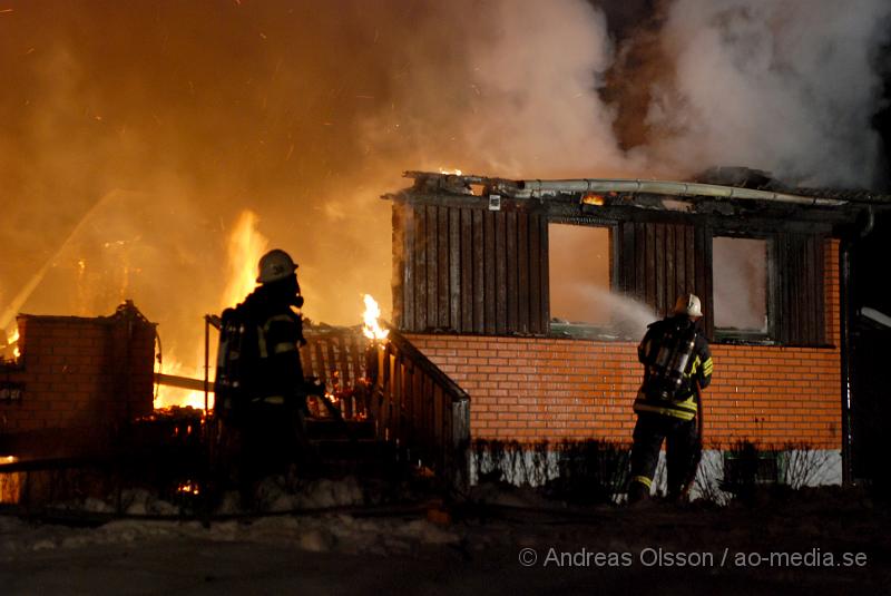
<svg viewBox="0 0 891 596"><path fill-rule="evenodd" d="M395 330L368 359L378 436L456 488L468 485L470 395ZM375 358L376 356L376 358Z"/></svg>

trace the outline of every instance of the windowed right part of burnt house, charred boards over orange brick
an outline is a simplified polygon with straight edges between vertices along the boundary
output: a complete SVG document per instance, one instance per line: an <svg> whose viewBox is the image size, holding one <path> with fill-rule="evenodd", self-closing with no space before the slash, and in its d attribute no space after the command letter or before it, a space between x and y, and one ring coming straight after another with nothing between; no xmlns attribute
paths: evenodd
<svg viewBox="0 0 891 596"><path fill-rule="evenodd" d="M807 449L822 480L848 477L849 247L891 197L744 168L691 183L407 176L384 197L393 320L469 395L471 438L629 444L637 342L693 292L715 362L712 458L748 442L777 473Z"/></svg>

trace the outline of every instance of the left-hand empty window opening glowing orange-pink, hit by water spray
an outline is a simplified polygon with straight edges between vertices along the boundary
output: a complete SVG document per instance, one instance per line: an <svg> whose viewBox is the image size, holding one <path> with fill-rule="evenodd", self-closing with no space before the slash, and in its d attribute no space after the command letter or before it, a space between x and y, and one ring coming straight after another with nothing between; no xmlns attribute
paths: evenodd
<svg viewBox="0 0 891 596"><path fill-rule="evenodd" d="M610 228L548 224L551 332L613 323Z"/></svg>

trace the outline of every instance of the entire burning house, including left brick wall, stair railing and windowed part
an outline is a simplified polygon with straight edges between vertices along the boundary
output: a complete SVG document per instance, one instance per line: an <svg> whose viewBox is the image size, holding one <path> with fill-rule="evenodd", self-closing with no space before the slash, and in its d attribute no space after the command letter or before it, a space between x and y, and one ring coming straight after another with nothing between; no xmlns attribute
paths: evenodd
<svg viewBox="0 0 891 596"><path fill-rule="evenodd" d="M745 443L767 480L803 450L822 458L811 480L850 478L863 408L849 389L849 255L889 197L783 188L742 168L688 183L408 176L385 197L389 335L366 296L365 336L310 326L301 348L306 373L401 460L463 483L473 439L627 450L637 343L692 292L716 371L712 465L726 471ZM153 383L213 408L209 364L203 382L155 372L155 325L129 302L108 317L18 322L0 367L0 453L99 449L153 413Z"/></svg>

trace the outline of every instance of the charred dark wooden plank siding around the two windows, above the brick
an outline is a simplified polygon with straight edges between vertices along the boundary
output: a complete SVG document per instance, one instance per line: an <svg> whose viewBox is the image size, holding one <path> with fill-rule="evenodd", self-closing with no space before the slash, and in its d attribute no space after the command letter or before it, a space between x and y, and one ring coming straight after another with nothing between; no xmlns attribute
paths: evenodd
<svg viewBox="0 0 891 596"><path fill-rule="evenodd" d="M823 346L825 225L781 218L689 216L646 209L431 195L393 202L393 319L407 332L546 336L550 332L548 224L610 229L613 291L668 313L678 295L703 301L714 338L714 235L770 242L767 339ZM584 258L584 255L579 255Z"/></svg>

